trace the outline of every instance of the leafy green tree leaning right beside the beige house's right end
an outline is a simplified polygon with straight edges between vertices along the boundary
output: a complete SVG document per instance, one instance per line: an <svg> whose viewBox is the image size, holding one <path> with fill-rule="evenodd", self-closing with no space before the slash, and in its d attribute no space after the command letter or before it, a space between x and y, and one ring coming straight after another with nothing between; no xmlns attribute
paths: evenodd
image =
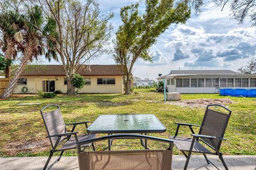
<svg viewBox="0 0 256 170"><path fill-rule="evenodd" d="M172 24L185 23L190 17L187 3L174 5L172 0L146 0L145 12L139 11L139 3L121 8L122 25L114 40L114 60L123 66L126 74L125 94L130 94L132 71L135 62L142 58L151 61L150 47ZM141 14L142 13L142 14Z"/></svg>

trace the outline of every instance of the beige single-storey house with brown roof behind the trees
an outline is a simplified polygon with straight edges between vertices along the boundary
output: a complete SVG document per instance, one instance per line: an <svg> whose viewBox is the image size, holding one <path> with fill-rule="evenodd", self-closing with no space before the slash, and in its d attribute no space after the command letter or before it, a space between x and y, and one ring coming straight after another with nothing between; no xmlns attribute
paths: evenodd
<svg viewBox="0 0 256 170"><path fill-rule="evenodd" d="M78 71L85 78L84 87L79 93L123 93L123 72L118 65L82 65ZM22 93L67 92L67 79L62 65L29 65L21 74L14 94Z"/></svg>

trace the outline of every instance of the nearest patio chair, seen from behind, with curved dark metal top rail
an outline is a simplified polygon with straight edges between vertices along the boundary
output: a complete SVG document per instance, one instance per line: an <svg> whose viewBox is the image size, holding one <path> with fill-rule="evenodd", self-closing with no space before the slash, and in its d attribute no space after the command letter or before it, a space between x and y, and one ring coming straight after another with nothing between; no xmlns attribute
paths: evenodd
<svg viewBox="0 0 256 170"><path fill-rule="evenodd" d="M81 146L109 139L147 139L169 143L162 150L83 151ZM171 170L173 141L140 134L114 134L77 142L80 170Z"/></svg>

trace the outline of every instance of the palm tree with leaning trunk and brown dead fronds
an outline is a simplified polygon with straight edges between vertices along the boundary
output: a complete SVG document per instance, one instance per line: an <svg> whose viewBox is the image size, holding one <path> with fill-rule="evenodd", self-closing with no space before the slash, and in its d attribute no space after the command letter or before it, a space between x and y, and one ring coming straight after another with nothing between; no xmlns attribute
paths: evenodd
<svg viewBox="0 0 256 170"><path fill-rule="evenodd" d="M15 16L15 20L7 20L10 15ZM3 23L0 20L0 29L5 28L5 25L8 26L7 29L2 29L4 35L6 35L4 37L6 42L2 47L5 49L5 58L11 59L17 57L19 53L21 54L20 64L15 69L13 78L1 96L2 98L9 98L28 62L37 60L38 56L43 54L49 61L51 58L57 60L57 53L53 50L54 41L47 37L54 35L55 38L58 38L58 35L55 31L56 23L51 18L47 19L45 27L42 28L44 18L39 6L34 6L28 10L27 15L9 12L2 17L3 20L9 22Z"/></svg>

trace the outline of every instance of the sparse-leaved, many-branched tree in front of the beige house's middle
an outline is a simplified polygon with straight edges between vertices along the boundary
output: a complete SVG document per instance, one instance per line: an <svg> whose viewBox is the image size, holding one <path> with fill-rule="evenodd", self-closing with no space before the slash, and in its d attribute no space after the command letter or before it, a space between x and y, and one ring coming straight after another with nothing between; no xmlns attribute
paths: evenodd
<svg viewBox="0 0 256 170"><path fill-rule="evenodd" d="M101 14L95 0L38 1L45 14L53 16L57 22L58 39L55 40L61 63L67 77L67 94L75 94L72 79L83 64L104 51L112 27L108 21L113 13Z"/></svg>

